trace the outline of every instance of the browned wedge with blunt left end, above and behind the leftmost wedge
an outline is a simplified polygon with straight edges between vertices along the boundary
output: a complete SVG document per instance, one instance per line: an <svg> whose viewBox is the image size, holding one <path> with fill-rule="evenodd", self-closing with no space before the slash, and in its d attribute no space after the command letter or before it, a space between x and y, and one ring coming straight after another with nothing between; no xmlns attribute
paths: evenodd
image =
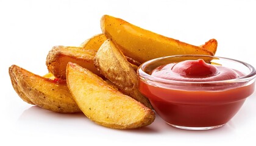
<svg viewBox="0 0 256 146"><path fill-rule="evenodd" d="M46 58L46 66L57 78L66 78L66 65L68 62L77 63L83 68L87 68L94 74L101 77L99 71L94 66L96 50L84 50L81 47L54 46Z"/></svg>

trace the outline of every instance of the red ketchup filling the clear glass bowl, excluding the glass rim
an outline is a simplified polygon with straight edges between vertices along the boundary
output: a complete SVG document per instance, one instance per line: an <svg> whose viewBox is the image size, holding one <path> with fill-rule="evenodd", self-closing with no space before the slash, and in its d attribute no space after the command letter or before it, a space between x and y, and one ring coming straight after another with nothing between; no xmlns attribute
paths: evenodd
<svg viewBox="0 0 256 146"><path fill-rule="evenodd" d="M243 73L205 63L187 60L159 66L152 76L187 82L188 86L149 85L139 82L139 90L148 97L155 111L171 125L179 127L214 127L228 122L254 91L254 85L213 83L191 86L191 82L213 82L244 76Z"/></svg>

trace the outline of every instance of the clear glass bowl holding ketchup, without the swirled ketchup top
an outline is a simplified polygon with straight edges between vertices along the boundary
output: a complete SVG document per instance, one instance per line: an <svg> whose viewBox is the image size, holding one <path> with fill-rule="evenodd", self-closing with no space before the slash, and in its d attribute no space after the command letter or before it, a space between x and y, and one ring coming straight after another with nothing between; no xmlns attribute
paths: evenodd
<svg viewBox="0 0 256 146"><path fill-rule="evenodd" d="M203 59L244 75L230 80L186 82L154 77L158 66ZM250 64L224 57L174 55L146 61L137 70L139 91L148 97L156 113L173 127L208 130L225 125L255 89L256 71Z"/></svg>

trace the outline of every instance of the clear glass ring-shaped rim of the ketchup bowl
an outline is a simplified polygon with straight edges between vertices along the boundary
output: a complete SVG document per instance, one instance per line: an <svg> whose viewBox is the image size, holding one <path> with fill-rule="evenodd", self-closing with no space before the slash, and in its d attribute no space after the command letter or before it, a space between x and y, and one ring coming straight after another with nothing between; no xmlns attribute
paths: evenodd
<svg viewBox="0 0 256 146"><path fill-rule="evenodd" d="M146 73L143 69L146 68L146 66L148 66L148 64L150 63L154 63L156 61L159 60L163 60L165 58L171 58L171 57L211 57L211 58L219 58L222 60L229 60L229 61L235 61L236 63L240 63L243 64L244 66L246 66L249 69L249 74L244 75L243 77L238 77L238 78L233 78L233 79L229 79L229 80L220 80L220 81L204 81L204 82L187 82L187 81L176 81L176 80L168 80L168 79L164 79L164 78L159 78L159 77L154 77L148 73ZM137 69L137 74L138 77L144 80L150 80L151 82L156 82L156 83L164 83L164 84L174 84L174 85L194 85L194 84L230 84L230 83L241 83L241 82L249 82L251 80L253 80L256 77L256 70L254 68L254 66L252 66L249 63L245 63L244 61L240 61L240 60L235 60L232 58L227 58L227 57L218 57L218 56L211 56L211 55L171 55L171 56L166 56L166 57L159 57L159 58L155 58L149 61L146 61L144 63L142 63L138 69Z"/></svg>

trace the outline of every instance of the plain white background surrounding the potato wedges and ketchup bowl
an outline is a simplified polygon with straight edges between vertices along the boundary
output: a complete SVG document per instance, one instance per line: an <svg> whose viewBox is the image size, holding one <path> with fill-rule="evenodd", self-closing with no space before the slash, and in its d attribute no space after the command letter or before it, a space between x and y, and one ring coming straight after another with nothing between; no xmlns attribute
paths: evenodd
<svg viewBox="0 0 256 146"><path fill-rule="evenodd" d="M46 55L52 46L79 46L101 33L104 14L194 45L215 38L216 56L256 66L255 7L253 0L0 0L0 145L255 145L255 92L227 125L216 130L179 130L160 117L138 130L113 130L83 114L58 114L23 102L8 74L12 64L46 74Z"/></svg>

